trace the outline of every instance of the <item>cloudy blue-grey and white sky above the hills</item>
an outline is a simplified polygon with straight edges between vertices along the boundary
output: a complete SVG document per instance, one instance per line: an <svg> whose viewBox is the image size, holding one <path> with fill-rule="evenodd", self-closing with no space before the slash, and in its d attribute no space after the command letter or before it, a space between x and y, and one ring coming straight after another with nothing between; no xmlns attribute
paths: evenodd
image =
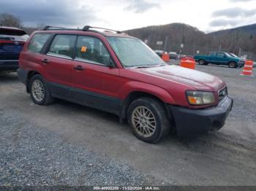
<svg viewBox="0 0 256 191"><path fill-rule="evenodd" d="M256 0L0 0L24 26L90 25L124 31L186 23L206 33L256 23Z"/></svg>

